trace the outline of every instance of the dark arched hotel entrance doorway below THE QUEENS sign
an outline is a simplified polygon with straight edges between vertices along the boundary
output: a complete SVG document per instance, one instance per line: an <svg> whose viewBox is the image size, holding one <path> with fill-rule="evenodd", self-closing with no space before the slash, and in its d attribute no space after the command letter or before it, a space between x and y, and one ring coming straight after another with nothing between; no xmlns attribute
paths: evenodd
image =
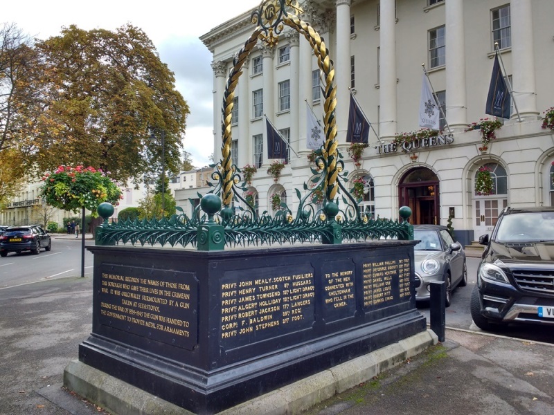
<svg viewBox="0 0 554 415"><path fill-rule="evenodd" d="M412 169L399 185L400 206L409 206L412 225L440 224L438 177L425 167Z"/></svg>

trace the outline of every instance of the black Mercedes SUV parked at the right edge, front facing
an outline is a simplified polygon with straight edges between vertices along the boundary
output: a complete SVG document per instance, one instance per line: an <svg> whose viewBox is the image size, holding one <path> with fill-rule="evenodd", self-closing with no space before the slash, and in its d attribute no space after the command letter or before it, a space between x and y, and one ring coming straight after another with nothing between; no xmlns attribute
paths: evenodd
<svg viewBox="0 0 554 415"><path fill-rule="evenodd" d="M506 208L479 243L486 248L472 291L475 324L554 327L554 208Z"/></svg>

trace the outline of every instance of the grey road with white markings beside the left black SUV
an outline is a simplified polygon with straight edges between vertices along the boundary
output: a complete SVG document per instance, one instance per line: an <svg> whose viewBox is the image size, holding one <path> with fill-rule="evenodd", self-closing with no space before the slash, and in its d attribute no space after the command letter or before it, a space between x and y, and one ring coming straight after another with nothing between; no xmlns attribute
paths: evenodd
<svg viewBox="0 0 554 415"><path fill-rule="evenodd" d="M87 240L93 244L94 241ZM92 276L93 255L85 250L84 274ZM52 235L52 250L41 250L39 255L10 252L0 258L0 289L21 284L32 284L45 279L75 277L81 275L81 239Z"/></svg>

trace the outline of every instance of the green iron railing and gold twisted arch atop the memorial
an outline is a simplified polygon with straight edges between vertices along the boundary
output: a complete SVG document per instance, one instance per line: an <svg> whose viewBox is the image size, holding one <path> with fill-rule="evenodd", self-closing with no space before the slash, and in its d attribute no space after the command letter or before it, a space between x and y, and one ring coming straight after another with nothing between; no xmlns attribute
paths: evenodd
<svg viewBox="0 0 554 415"><path fill-rule="evenodd" d="M222 148L221 159L214 164L211 175L211 191L198 194L200 204L188 217L181 208L170 219L135 220L108 223L113 214L109 204L98 207L105 222L97 229L96 243L160 244L161 246L194 246L198 250L218 250L225 246L257 246L275 243L342 243L343 241L366 241L367 239L413 239L413 227L408 218L410 208L400 208L402 221L373 218L361 214L357 200L348 191L348 172L343 156L338 150L337 91L334 86L334 68L329 50L319 33L299 15L303 12L296 0L265 0L251 15L256 27L233 59L222 102ZM234 91L242 74L242 66L258 42L269 47L278 44L284 26L289 26L303 35L310 43L317 59L323 80L325 142L315 152L315 165L310 167L312 178L304 183L305 194L295 190L298 201L296 212L287 203L280 203L278 210L270 215L267 211L258 214L253 199L244 195L247 181L231 158L231 114ZM321 200L323 199L323 200ZM192 201L191 201L192 203ZM231 208L242 205L237 209Z"/></svg>

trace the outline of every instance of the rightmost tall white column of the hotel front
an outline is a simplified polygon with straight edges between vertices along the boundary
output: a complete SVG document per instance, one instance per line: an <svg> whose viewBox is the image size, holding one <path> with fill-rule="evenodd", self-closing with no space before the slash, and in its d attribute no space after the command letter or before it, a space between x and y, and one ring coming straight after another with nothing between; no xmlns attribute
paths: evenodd
<svg viewBox="0 0 554 415"><path fill-rule="evenodd" d="M512 19L512 89L515 103L521 118L537 120L539 111L537 111L535 84L531 0L512 0L510 18ZM517 117L517 114L513 117Z"/></svg>

